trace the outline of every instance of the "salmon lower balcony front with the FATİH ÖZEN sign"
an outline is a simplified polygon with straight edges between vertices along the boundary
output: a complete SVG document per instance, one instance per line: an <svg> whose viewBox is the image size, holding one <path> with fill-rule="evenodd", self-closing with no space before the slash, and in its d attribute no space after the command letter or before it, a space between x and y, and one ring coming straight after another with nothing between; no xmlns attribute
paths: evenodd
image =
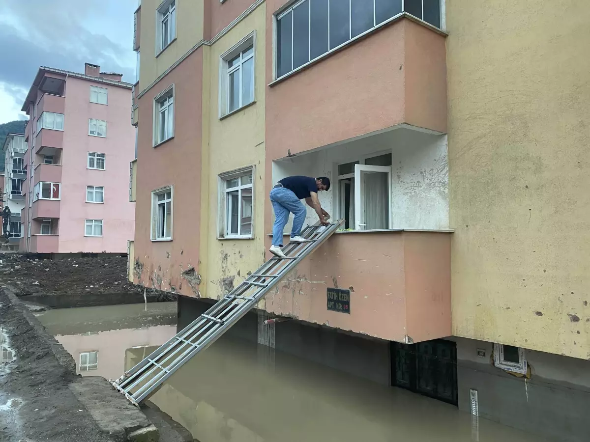
<svg viewBox="0 0 590 442"><path fill-rule="evenodd" d="M328 287L350 289L350 314L327 311ZM446 337L450 235L336 233L267 295L266 309L391 341Z"/></svg>

